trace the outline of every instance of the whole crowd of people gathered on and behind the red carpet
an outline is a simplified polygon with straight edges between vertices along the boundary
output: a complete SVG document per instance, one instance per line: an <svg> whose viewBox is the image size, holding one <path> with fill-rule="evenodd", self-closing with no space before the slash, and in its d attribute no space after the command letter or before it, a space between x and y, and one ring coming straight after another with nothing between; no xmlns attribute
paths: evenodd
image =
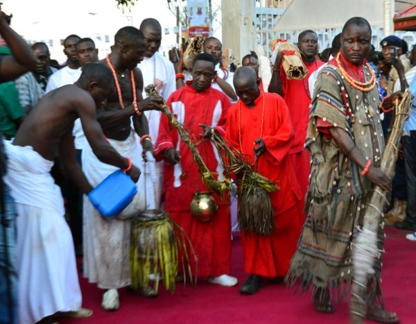
<svg viewBox="0 0 416 324"><path fill-rule="evenodd" d="M159 53L162 28L153 18L121 28L103 60L92 38L67 36L67 61L57 68L44 42L29 46L9 23L0 12L6 43L0 46L1 323L92 316L81 307L76 255L83 256L84 277L102 289L103 309L119 309L123 287L157 296L151 285L131 287L130 226L144 210L163 209L180 225L198 258L198 277L238 284L231 270L232 201L214 194L215 216L206 222L193 216L193 195L209 188L162 114L164 103L216 180L224 166L211 143L214 133L279 186L270 194L272 233L242 230L248 278L241 293L257 293L263 280L300 284L311 288L317 312L333 312L354 279L352 251L374 186L392 192L379 250L384 223L410 230L406 238L416 241L416 100L395 178L380 169L394 104L407 88L416 96L416 46L408 53L406 42L390 35L375 51L364 18L349 19L321 54L317 34L300 33L296 46L308 73L288 77L282 61L290 53L278 51L266 67L267 87L256 53L229 71L215 37L204 40L185 71L183 53L174 62ZM146 94L147 85L158 95ZM147 152L156 162L144 159ZM139 194L119 216L105 219L87 194L118 169ZM381 255L374 269L364 316L395 323L397 315L377 302Z"/></svg>

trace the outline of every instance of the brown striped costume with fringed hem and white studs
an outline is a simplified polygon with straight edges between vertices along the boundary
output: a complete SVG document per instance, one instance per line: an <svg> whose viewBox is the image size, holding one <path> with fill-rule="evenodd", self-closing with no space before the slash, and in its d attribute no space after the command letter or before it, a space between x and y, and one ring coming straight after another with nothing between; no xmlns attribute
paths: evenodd
<svg viewBox="0 0 416 324"><path fill-rule="evenodd" d="M367 82L369 69L341 58L356 80ZM311 153L311 180L306 196L306 223L292 259L288 283L297 281L306 290L339 287L352 281L352 248L358 226L372 193L372 183L331 138L328 127L340 127L374 167L380 167L384 139L379 116L377 87L355 89L343 78L335 60L320 71L309 117L306 146ZM383 230L379 230L383 249ZM379 281L381 262L376 262Z"/></svg>

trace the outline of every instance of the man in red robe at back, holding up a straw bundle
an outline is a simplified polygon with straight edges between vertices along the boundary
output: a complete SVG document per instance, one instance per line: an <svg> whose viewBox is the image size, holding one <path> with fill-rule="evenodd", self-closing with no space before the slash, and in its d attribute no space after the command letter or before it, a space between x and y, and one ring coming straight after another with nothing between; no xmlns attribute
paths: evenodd
<svg viewBox="0 0 416 324"><path fill-rule="evenodd" d="M269 92L280 94L288 105L293 128L295 129L295 137L293 137L289 154L302 191L303 204L309 185L309 173L311 173L309 151L304 147L308 128L309 105L311 105L311 97L313 96L309 93L309 76L321 65L324 65L324 62L315 58L318 53L318 36L314 31L302 31L297 38L297 48L302 55L302 61L306 69L308 69L308 74L302 80L288 80L283 67L281 67L281 58L283 58L284 53L279 52L273 67Z"/></svg>

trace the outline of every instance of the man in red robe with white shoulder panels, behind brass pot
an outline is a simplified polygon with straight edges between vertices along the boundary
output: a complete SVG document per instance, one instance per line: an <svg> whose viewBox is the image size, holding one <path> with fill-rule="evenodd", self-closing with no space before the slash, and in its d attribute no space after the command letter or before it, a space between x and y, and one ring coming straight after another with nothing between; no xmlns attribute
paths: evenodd
<svg viewBox="0 0 416 324"><path fill-rule="evenodd" d="M193 61L193 80L173 92L167 104L177 121L189 132L191 141L196 144L208 169L221 177L223 165L209 138L212 128L224 135L225 117L231 103L223 92L211 87L211 80L215 74L212 56L207 53L199 54ZM222 200L214 195L219 208L210 221L203 222L191 215L189 207L194 194L198 191L209 191L209 188L202 182L201 173L191 151L180 141L177 130L168 123L165 115L160 119L155 154L166 160L162 189L164 209L191 239L198 257L198 276L207 277L209 282L227 287L236 285L237 279L229 275L229 199Z"/></svg>

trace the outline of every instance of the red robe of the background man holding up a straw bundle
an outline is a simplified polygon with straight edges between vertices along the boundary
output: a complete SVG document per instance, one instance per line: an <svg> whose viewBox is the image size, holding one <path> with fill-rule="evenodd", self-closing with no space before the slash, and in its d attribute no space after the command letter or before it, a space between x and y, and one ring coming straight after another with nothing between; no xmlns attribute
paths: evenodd
<svg viewBox="0 0 416 324"><path fill-rule="evenodd" d="M311 64L303 62L309 71L303 80L288 80L284 69L280 69L283 99L288 105L293 128L295 129L295 137L289 153L291 154L293 167L296 170L297 182L299 182L302 191L302 204L306 191L308 191L309 173L311 173L309 151L304 149L306 130L308 130L309 105L311 105L311 97L313 96L313 94L309 94L309 76L321 65L324 65L324 62L320 60L314 60Z"/></svg>

